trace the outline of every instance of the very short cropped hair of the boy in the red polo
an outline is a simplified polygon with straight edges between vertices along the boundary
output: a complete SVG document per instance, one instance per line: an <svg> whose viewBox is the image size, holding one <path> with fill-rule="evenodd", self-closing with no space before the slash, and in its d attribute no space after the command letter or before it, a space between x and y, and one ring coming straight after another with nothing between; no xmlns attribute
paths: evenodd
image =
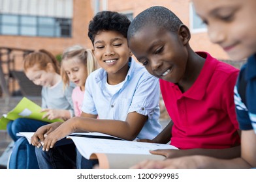
<svg viewBox="0 0 256 182"><path fill-rule="evenodd" d="M159 29L163 28L171 32L178 32L180 25L183 24L180 18L168 8L152 6L140 12L133 19L127 33L128 40L150 23L153 23Z"/></svg>

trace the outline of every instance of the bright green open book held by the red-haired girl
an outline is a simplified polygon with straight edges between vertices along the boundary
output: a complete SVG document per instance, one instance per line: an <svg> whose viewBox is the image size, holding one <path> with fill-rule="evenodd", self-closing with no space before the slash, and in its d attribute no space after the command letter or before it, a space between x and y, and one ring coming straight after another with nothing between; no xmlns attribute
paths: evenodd
<svg viewBox="0 0 256 182"><path fill-rule="evenodd" d="M42 116L44 116L46 112L41 112L41 110L42 108L39 105L24 97L20 100L16 107L14 107L14 109L2 116L0 119L0 130L7 129L7 123L10 122L10 120L16 120L17 118L30 118L50 123L63 122L61 119L42 119Z"/></svg>

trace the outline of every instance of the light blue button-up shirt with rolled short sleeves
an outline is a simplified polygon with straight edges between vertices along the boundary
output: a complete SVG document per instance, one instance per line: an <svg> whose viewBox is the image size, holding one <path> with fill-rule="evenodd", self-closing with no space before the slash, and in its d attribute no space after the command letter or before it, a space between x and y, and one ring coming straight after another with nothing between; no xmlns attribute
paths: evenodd
<svg viewBox="0 0 256 182"><path fill-rule="evenodd" d="M159 123L159 79L150 75L144 66L131 60L130 69L121 89L112 96L106 89L107 73L103 68L91 73L86 80L82 111L100 119L121 120L129 112L148 116L137 138L153 139L161 131Z"/></svg>

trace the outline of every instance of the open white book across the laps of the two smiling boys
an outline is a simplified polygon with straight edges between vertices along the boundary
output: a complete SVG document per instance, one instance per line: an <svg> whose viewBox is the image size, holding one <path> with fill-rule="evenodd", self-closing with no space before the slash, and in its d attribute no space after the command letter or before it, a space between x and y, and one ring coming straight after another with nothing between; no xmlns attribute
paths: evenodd
<svg viewBox="0 0 256 182"><path fill-rule="evenodd" d="M33 132L22 132L30 142ZM169 144L153 144L146 142L127 141L103 133L72 133L67 136L72 139L76 148L86 159L98 159L99 168L130 168L146 159L163 160L162 155L152 155L150 150L178 149ZM63 138L65 139L65 138ZM67 140L67 139L66 139ZM58 141L60 142L60 141ZM58 142L56 146L59 145Z"/></svg>

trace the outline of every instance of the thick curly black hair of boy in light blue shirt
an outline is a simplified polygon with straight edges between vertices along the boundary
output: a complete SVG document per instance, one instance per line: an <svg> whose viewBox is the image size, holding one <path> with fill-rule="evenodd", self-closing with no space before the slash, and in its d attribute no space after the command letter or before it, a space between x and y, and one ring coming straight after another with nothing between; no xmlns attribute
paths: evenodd
<svg viewBox="0 0 256 182"><path fill-rule="evenodd" d="M120 32L127 38L127 31L131 21L125 16L113 11L98 12L91 21L89 21L88 36L92 44L95 36L101 31Z"/></svg>

